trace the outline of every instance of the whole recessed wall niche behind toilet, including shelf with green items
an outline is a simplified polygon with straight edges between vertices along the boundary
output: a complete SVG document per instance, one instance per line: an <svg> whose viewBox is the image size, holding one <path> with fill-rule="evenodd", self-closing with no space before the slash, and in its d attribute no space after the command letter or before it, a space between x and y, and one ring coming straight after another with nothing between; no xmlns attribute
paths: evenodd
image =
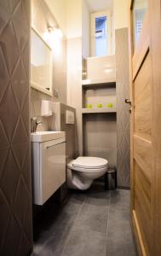
<svg viewBox="0 0 161 256"><path fill-rule="evenodd" d="M107 108L108 103L112 103L112 108ZM92 108L86 108L87 104ZM116 79L83 80L83 154L105 158L110 166L116 166L117 162L116 113Z"/></svg>

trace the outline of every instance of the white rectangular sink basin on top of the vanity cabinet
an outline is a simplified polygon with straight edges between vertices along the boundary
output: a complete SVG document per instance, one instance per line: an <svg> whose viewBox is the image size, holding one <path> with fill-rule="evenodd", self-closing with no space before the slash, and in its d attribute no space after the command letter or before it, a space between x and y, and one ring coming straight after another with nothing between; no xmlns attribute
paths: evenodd
<svg viewBox="0 0 161 256"><path fill-rule="evenodd" d="M65 137L65 131L36 131L31 133L31 142L43 143Z"/></svg>

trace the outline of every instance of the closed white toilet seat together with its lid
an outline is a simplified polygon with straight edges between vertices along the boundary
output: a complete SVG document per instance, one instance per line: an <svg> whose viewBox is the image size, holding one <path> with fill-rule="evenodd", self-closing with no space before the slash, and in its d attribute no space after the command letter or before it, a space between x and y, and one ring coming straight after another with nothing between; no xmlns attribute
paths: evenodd
<svg viewBox="0 0 161 256"><path fill-rule="evenodd" d="M78 172L105 172L108 161L99 157L79 156L68 163L68 168Z"/></svg>

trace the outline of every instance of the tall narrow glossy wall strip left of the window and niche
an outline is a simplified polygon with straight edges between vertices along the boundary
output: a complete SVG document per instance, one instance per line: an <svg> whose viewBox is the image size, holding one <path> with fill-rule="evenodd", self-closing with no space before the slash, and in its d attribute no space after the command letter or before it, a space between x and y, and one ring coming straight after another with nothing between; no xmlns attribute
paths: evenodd
<svg viewBox="0 0 161 256"><path fill-rule="evenodd" d="M78 151L82 154L82 0L66 0L67 104L76 108Z"/></svg>

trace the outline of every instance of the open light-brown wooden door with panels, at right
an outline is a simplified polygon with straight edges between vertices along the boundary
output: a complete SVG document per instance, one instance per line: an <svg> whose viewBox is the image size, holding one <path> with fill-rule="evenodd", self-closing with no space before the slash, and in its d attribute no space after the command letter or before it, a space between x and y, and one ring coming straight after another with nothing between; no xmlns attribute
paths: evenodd
<svg viewBox="0 0 161 256"><path fill-rule="evenodd" d="M160 23L160 1L150 0L130 67L131 217L138 251L149 256L161 255Z"/></svg>

